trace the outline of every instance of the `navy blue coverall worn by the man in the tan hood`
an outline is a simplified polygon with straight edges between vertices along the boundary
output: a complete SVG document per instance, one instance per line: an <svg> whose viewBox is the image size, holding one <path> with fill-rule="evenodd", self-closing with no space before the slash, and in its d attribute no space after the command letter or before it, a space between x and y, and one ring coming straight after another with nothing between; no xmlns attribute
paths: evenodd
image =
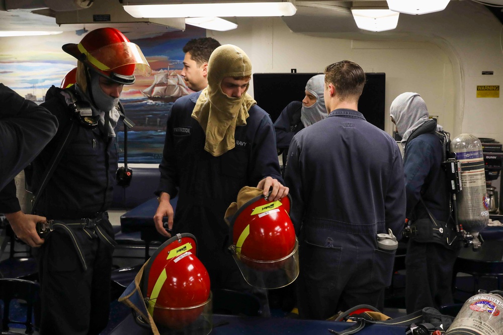
<svg viewBox="0 0 503 335"><path fill-rule="evenodd" d="M246 125L236 127L235 148L214 157L204 150L205 133L191 117L200 92L179 98L167 122L161 178L156 194L178 194L173 231L191 233L197 257L210 275L212 288L248 290L232 256L225 252L229 227L224 215L243 186L257 186L280 175L276 139L269 115L259 106L248 110Z"/></svg>

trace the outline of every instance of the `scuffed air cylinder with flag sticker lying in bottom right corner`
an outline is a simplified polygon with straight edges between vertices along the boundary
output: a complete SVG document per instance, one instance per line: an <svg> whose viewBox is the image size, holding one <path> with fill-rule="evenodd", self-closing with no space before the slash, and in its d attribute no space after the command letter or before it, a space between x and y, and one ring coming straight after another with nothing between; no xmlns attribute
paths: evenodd
<svg viewBox="0 0 503 335"><path fill-rule="evenodd" d="M501 291L496 291L503 293ZM463 304L446 335L500 335L503 333L503 298L479 293Z"/></svg>

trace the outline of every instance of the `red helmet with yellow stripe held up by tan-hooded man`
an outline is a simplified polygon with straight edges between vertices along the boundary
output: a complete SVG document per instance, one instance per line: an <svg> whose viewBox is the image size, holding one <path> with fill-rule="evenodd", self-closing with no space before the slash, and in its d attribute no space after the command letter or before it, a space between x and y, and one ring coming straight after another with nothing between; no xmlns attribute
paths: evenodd
<svg viewBox="0 0 503 335"><path fill-rule="evenodd" d="M278 288L298 275L298 243L289 216L290 195L277 200L257 196L229 219L234 260L251 286Z"/></svg>

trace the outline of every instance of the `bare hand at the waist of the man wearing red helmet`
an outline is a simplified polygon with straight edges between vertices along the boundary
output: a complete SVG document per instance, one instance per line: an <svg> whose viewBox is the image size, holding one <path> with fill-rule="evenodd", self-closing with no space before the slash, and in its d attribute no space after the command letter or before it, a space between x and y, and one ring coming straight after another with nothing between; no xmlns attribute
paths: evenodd
<svg viewBox="0 0 503 335"><path fill-rule="evenodd" d="M32 248L38 248L44 243L44 239L38 236L36 229L38 222L47 221L44 216L25 214L21 210L15 213L7 213L5 216L11 224L14 234L16 234L21 241Z"/></svg>

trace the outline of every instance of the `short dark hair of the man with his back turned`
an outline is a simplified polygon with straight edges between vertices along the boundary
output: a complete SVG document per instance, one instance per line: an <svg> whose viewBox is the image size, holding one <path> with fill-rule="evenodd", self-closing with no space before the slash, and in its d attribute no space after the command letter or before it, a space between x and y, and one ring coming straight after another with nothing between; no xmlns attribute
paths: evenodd
<svg viewBox="0 0 503 335"><path fill-rule="evenodd" d="M365 85L365 72L355 62L343 60L325 68L325 83L336 87L341 100L360 98Z"/></svg>

